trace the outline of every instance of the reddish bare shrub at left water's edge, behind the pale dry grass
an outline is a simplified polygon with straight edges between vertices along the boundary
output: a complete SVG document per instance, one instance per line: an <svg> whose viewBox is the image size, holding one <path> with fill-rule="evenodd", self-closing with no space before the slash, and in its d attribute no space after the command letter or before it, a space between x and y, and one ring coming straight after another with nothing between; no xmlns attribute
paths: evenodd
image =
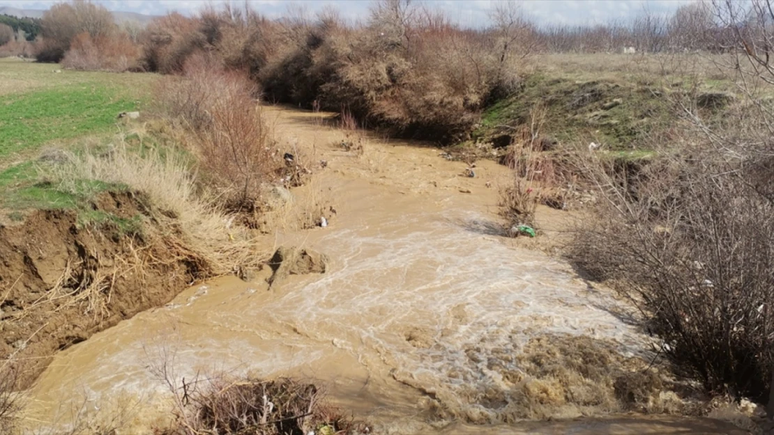
<svg viewBox="0 0 774 435"><path fill-rule="evenodd" d="M204 175L225 205L255 212L261 185L276 168L257 86L245 73L226 71L205 56L191 58L184 71L183 80L161 85L163 110L190 127Z"/></svg>

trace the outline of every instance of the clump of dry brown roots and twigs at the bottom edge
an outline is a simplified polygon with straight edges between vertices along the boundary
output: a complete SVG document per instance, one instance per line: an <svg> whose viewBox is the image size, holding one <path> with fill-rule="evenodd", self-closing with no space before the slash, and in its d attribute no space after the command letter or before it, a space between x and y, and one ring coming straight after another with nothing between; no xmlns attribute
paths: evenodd
<svg viewBox="0 0 774 435"><path fill-rule="evenodd" d="M180 410L164 435L295 435L368 433L327 405L316 386L293 379L216 378L183 383Z"/></svg>

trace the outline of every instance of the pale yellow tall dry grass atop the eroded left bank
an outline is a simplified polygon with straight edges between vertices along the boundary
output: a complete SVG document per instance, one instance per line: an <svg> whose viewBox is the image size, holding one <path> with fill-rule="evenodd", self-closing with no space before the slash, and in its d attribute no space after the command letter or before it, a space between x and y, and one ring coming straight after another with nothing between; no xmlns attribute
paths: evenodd
<svg viewBox="0 0 774 435"><path fill-rule="evenodd" d="M189 161L175 151L139 154L119 141L108 156L86 153L51 171L64 190L91 180L145 193L160 211L159 225L149 230L179 241L181 249L207 263L211 274L257 266L265 257L255 252L251 233L235 223L235 216L219 211L214 200L198 192Z"/></svg>

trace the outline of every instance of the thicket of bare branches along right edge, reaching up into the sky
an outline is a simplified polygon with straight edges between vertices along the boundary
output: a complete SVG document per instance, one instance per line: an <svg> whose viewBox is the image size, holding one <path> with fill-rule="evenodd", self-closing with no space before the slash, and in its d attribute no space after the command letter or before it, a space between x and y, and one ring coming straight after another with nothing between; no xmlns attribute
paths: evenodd
<svg viewBox="0 0 774 435"><path fill-rule="evenodd" d="M638 165L592 158L603 202L570 257L628 296L666 355L709 391L768 401L774 415L774 4L723 0L672 21L683 45L710 21L731 31L718 43L733 55L718 66L737 79L735 123L712 128L706 109L675 95L675 116L688 121L679 141L654 141L656 155Z"/></svg>

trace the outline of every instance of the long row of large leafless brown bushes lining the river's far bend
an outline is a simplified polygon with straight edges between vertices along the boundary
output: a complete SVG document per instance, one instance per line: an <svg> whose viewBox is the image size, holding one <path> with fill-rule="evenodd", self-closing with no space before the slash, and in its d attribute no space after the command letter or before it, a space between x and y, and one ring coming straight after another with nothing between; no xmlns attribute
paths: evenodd
<svg viewBox="0 0 774 435"><path fill-rule="evenodd" d="M360 124L452 141L488 101L518 88L516 67L533 47L517 9L486 31L397 0L375 4L361 26L330 11L296 15L271 22L231 6L196 19L168 15L149 26L146 65L176 72L207 51L248 70L271 100L345 106Z"/></svg>

